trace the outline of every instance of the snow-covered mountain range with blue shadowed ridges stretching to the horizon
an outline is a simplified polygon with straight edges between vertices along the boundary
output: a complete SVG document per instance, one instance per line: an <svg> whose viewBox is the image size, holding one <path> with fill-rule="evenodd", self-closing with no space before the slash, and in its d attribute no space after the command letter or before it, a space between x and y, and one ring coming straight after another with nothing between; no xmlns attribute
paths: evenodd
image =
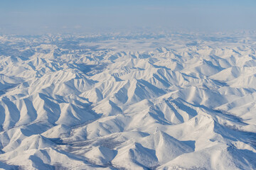
<svg viewBox="0 0 256 170"><path fill-rule="evenodd" d="M255 33L1 35L0 169L256 169Z"/></svg>

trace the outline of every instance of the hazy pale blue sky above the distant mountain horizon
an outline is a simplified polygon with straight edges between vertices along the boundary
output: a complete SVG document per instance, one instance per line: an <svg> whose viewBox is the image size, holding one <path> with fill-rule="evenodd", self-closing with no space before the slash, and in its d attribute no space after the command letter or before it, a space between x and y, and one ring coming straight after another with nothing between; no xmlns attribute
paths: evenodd
<svg viewBox="0 0 256 170"><path fill-rule="evenodd" d="M256 0L0 0L1 33L256 30Z"/></svg>

